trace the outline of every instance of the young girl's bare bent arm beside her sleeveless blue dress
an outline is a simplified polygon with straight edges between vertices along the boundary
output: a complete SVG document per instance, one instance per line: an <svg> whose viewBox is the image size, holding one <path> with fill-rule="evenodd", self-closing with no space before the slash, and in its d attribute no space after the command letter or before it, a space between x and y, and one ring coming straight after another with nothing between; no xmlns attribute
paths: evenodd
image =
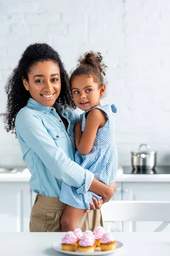
<svg viewBox="0 0 170 256"><path fill-rule="evenodd" d="M102 128L106 121L106 114L94 108L88 113L83 133L81 131L81 122L77 122L75 125L75 143L80 154L86 155L91 151L97 130Z"/></svg>

